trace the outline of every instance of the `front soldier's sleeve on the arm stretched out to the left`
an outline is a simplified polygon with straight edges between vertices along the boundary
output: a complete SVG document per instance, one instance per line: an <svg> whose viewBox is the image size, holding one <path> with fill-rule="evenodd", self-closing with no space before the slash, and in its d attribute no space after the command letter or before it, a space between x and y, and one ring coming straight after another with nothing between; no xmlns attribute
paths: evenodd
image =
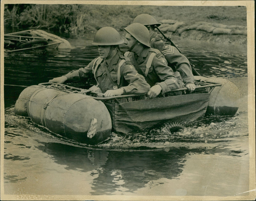
<svg viewBox="0 0 256 201"><path fill-rule="evenodd" d="M93 59L86 67L79 68L78 70L70 71L66 76L69 81L78 81L82 78L90 78L93 76L92 74L92 65L95 59Z"/></svg>

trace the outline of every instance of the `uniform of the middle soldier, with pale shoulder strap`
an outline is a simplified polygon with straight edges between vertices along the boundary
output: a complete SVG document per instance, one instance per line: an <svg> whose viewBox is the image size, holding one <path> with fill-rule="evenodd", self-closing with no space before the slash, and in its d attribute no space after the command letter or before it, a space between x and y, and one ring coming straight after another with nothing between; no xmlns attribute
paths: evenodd
<svg viewBox="0 0 256 201"><path fill-rule="evenodd" d="M155 56L153 55L154 57L150 56L152 53L155 53ZM133 52L126 52L125 56L128 56L135 67L135 62L137 62L142 71L142 75L146 77L148 84L151 87L155 84L159 84L162 87L162 93L184 87L174 76L172 68L167 66L166 59L158 49L144 48L139 55L136 55ZM150 59L152 61L148 64Z"/></svg>

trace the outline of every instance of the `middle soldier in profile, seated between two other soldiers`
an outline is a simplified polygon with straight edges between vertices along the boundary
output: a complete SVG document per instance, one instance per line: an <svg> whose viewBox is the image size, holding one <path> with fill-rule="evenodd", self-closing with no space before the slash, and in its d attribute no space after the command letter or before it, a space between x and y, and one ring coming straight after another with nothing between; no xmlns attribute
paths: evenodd
<svg viewBox="0 0 256 201"><path fill-rule="evenodd" d="M147 95L154 98L158 94L166 93L174 89L183 88L174 76L172 68L167 66L164 55L158 50L150 48L148 29L140 23L132 23L124 28L127 32L124 44L128 56L136 70L145 77L150 85Z"/></svg>

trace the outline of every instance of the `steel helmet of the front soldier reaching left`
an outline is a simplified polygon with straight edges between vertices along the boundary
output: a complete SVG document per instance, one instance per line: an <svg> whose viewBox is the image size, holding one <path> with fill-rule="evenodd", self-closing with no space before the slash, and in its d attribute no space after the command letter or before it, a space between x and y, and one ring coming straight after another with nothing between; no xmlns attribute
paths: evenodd
<svg viewBox="0 0 256 201"><path fill-rule="evenodd" d="M120 45L124 43L121 35L110 26L100 28L93 39L92 45Z"/></svg>

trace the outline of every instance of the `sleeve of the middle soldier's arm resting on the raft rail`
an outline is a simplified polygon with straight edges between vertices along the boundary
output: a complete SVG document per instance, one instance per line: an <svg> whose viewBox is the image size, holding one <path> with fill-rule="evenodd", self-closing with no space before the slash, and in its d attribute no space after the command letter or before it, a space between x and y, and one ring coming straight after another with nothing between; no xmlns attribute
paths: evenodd
<svg viewBox="0 0 256 201"><path fill-rule="evenodd" d="M167 66L167 62L162 54L157 54L152 64L160 80L163 80L162 82L156 83L162 87L162 93L179 88L178 80L174 76L172 68Z"/></svg>

